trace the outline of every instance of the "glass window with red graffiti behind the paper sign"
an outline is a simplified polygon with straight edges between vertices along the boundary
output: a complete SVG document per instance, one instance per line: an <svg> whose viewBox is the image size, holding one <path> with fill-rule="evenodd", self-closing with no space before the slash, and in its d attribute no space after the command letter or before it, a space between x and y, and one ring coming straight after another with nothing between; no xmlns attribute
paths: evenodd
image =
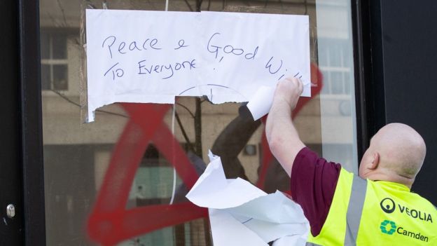
<svg viewBox="0 0 437 246"><path fill-rule="evenodd" d="M165 1L83 3L165 9ZM42 97L48 245L212 245L204 211L185 198L208 149L221 156L228 178L289 191L286 172L269 158L263 123L240 114L241 104L197 97L180 97L174 107L119 103L81 123L81 6L40 0L41 83L50 90ZM295 125L307 146L356 172L350 8L345 0L169 1L170 11L309 15L313 96Z"/></svg>

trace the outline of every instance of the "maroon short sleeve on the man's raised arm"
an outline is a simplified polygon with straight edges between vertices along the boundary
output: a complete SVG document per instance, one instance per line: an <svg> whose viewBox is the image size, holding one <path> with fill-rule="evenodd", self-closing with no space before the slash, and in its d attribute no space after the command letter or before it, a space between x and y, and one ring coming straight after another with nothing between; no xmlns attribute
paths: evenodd
<svg viewBox="0 0 437 246"><path fill-rule="evenodd" d="M299 151L291 170L291 196L319 235L334 197L341 165L320 158L307 147Z"/></svg>

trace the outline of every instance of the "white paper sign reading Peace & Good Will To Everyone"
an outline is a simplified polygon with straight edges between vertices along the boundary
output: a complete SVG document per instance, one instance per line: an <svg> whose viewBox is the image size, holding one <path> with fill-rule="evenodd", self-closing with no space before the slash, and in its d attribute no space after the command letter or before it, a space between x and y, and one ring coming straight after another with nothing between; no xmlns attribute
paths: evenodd
<svg viewBox="0 0 437 246"><path fill-rule="evenodd" d="M307 15L87 10L86 28L88 121L113 102L247 102L286 76L310 96Z"/></svg>

